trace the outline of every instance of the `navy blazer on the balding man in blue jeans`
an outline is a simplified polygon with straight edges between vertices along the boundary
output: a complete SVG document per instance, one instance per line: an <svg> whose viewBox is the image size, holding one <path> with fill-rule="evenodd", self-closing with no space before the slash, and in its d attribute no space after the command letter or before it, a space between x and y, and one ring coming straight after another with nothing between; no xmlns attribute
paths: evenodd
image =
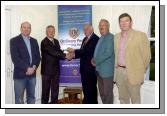
<svg viewBox="0 0 167 116"><path fill-rule="evenodd" d="M32 54L31 64L28 49L22 35L20 34L10 40L10 52L14 64L13 78L29 77L26 75L27 68L33 65L36 65L36 68L38 67L40 63L40 53L37 40L30 37L30 45ZM36 76L36 72L30 76Z"/></svg>

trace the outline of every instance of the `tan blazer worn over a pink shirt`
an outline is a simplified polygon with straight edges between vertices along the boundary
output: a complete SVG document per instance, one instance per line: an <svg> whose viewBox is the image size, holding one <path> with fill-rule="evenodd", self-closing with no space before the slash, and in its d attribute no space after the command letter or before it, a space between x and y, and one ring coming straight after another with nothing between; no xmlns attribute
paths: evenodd
<svg viewBox="0 0 167 116"><path fill-rule="evenodd" d="M121 33L115 35L115 65L118 62L118 50ZM144 73L151 59L150 43L145 33L131 29L125 46L125 64L127 77L131 84L144 81ZM115 80L117 75L115 75Z"/></svg>

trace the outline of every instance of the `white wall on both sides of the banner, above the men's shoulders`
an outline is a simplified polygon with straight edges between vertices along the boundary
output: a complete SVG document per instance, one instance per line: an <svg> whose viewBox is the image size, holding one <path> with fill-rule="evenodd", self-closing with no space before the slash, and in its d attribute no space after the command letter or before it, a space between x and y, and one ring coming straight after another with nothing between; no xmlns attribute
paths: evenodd
<svg viewBox="0 0 167 116"><path fill-rule="evenodd" d="M92 23L95 33L99 36L99 21L102 18L107 19L110 22L110 31L117 33L120 31L118 25L118 17L122 13L129 13L133 19L133 27L137 30L141 30L148 33L151 7L148 5L115 5L115 6L92 6ZM57 19L57 6L12 6L12 29L11 35L15 36L20 33L20 23L23 21L29 21L32 24L31 36L38 39L38 42L45 37L45 28L47 25L52 24L56 27L56 35L58 37L58 19Z"/></svg>

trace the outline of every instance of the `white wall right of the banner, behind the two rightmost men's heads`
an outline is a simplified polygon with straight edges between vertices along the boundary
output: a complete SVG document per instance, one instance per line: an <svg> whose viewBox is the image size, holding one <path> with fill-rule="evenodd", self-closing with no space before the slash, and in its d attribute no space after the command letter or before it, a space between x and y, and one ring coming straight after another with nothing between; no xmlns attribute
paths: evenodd
<svg viewBox="0 0 167 116"><path fill-rule="evenodd" d="M95 33L99 34L98 24L100 19L105 18L110 22L112 33L120 32L118 18L122 13L128 13L133 20L133 28L148 34L151 7L147 5L114 5L114 6L92 6L93 27Z"/></svg>

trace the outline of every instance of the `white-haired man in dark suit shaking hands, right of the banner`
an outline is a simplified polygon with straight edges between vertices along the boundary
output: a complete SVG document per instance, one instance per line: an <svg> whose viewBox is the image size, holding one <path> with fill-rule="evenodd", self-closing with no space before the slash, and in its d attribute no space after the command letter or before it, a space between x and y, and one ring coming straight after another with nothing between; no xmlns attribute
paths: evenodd
<svg viewBox="0 0 167 116"><path fill-rule="evenodd" d="M91 59L99 37L93 32L93 27L90 24L84 25L84 34L86 37L83 39L81 48L78 50L68 48L67 51L74 54L74 58L80 58L80 73L84 94L83 103L97 104L97 77Z"/></svg>

